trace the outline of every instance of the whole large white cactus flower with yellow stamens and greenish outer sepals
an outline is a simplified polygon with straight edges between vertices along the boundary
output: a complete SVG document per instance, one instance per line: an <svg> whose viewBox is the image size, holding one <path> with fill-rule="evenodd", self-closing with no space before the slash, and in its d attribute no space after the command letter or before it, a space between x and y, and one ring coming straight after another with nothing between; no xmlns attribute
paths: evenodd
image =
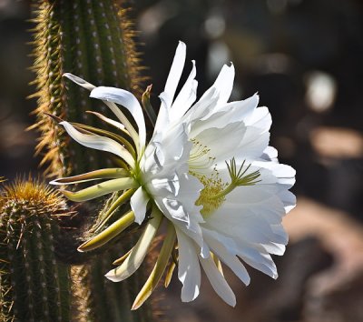
<svg viewBox="0 0 363 322"><path fill-rule="evenodd" d="M213 86L194 104L197 81L192 62L191 73L175 97L185 55L186 46L180 42L160 95L162 104L148 143L142 106L135 96L123 89L94 87L66 74L91 90L91 97L103 100L111 108L120 122L96 115L123 135L115 136L116 142L106 132L99 136L92 129L87 132L86 128L64 121L60 124L83 146L111 152L123 160L124 166L52 183L108 179L79 192L64 191L64 195L83 201L123 191L112 210L129 198L132 208L99 236L84 243L80 250L103 245L133 222L142 224L147 217L138 243L119 261L122 263L119 267L106 274L113 281L121 281L142 264L162 219L168 223L160 256L135 300L134 309L150 296L175 249L178 277L183 285L182 301L198 297L201 265L217 294L234 306L236 299L221 273L221 262L246 285L250 277L243 263L276 278L277 269L270 254L284 253L288 236L281 219L296 204L295 196L289 192L295 182L295 170L281 165L277 151L269 146L268 108L258 107L257 95L228 102L234 80L233 65L224 65ZM131 112L138 131L115 104Z"/></svg>

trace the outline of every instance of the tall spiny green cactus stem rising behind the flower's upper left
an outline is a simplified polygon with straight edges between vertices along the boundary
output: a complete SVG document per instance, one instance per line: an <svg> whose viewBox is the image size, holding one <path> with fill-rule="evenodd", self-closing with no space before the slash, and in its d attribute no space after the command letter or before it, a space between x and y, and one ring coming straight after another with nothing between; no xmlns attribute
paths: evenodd
<svg viewBox="0 0 363 322"><path fill-rule="evenodd" d="M112 0L47 0L34 5L34 111L41 137L36 148L44 153L51 176L69 176L109 166L104 156L71 142L46 114L97 126L86 110L108 114L106 106L89 99L88 91L62 77L72 73L95 86L116 86L141 94L141 67L126 10Z"/></svg>

